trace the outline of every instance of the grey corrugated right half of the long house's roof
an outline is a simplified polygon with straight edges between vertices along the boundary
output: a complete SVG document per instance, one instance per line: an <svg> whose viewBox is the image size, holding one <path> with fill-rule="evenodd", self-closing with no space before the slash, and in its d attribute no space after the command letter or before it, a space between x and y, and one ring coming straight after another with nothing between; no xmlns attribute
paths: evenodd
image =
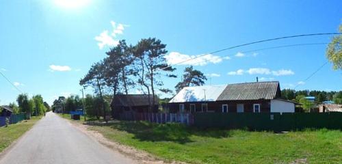
<svg viewBox="0 0 342 164"><path fill-rule="evenodd" d="M235 83L227 85L218 100L272 100L280 96L278 81Z"/></svg>

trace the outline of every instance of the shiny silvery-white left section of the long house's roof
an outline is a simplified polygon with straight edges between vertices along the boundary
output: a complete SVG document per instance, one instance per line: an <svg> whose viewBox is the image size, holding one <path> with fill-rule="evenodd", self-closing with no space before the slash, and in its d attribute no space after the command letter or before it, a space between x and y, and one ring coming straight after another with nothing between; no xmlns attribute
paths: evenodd
<svg viewBox="0 0 342 164"><path fill-rule="evenodd" d="M172 102L215 101L227 85L203 85L184 87L181 92L170 100Z"/></svg>

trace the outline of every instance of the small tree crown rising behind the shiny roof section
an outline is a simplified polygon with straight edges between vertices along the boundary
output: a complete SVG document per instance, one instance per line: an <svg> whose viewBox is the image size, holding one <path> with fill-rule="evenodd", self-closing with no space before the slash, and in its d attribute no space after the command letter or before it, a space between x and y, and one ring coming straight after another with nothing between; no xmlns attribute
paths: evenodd
<svg viewBox="0 0 342 164"><path fill-rule="evenodd" d="M176 92L179 92L183 87L204 85L207 77L199 70L194 70L192 66L185 68L183 73L183 81L177 83Z"/></svg>

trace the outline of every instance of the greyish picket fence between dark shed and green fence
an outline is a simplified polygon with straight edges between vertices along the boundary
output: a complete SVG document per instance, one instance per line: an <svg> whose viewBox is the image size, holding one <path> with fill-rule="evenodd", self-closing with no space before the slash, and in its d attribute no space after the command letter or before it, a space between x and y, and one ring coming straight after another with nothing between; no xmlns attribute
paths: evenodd
<svg viewBox="0 0 342 164"><path fill-rule="evenodd" d="M182 124L194 124L194 115L189 113L120 113L119 120L148 121L158 124L166 122L179 122Z"/></svg>

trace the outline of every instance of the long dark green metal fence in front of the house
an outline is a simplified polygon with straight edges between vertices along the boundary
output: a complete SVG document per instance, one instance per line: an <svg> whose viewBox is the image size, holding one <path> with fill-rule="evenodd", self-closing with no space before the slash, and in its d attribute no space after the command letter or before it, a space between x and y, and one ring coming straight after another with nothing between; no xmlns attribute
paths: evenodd
<svg viewBox="0 0 342 164"><path fill-rule="evenodd" d="M342 129L342 113L196 113L200 128L248 128L256 131L294 131L303 128Z"/></svg>

